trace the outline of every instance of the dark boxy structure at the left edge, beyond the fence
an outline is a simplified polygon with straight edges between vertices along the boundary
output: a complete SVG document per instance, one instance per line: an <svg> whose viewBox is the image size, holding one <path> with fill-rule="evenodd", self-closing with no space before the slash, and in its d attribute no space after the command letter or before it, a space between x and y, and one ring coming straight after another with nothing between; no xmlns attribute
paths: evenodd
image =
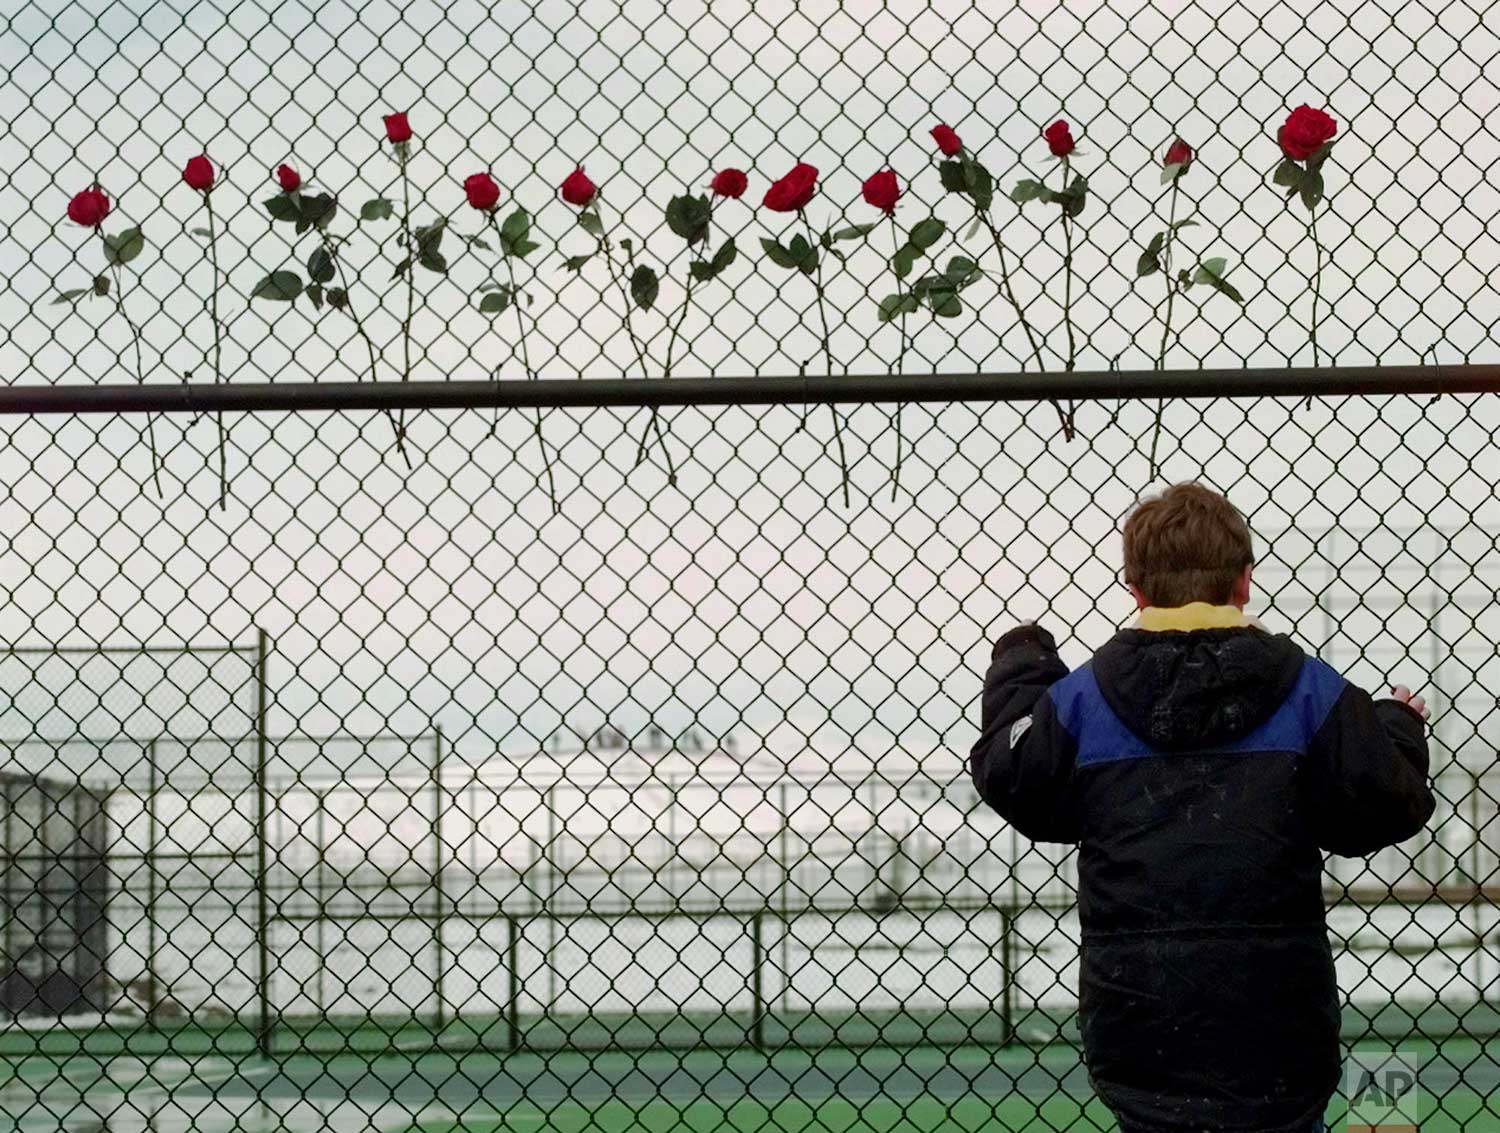
<svg viewBox="0 0 1500 1133"><path fill-rule="evenodd" d="M0 771L4 969L0 1011L102 1013L105 798L82 783Z"/></svg>

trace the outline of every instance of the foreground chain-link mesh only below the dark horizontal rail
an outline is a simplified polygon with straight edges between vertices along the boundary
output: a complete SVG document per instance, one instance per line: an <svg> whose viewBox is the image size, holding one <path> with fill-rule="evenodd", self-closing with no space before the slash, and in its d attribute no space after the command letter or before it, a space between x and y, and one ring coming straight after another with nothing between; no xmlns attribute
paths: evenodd
<svg viewBox="0 0 1500 1133"><path fill-rule="evenodd" d="M1076 447L1044 404L908 405L896 503L891 414L848 411L849 510L795 407L664 411L675 489L633 467L642 411L552 411L561 513L519 411L411 416L412 471L378 413L244 416L226 512L207 461L156 501L140 419L10 428L16 1125L1110 1128L1072 852L963 756L996 632L1040 617L1077 663L1128 618L1154 405L1080 407ZM1473 1130L1497 428L1482 396L1221 399L1162 447L1248 512L1269 626L1436 704L1430 830L1324 891L1344 1040L1420 1052ZM66 1001L16 1002L42 959Z"/></svg>

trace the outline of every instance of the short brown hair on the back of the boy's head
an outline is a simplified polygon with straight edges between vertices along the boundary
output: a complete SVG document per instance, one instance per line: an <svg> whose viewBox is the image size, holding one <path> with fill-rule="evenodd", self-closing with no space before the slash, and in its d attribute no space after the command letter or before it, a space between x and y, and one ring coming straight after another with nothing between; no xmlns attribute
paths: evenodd
<svg viewBox="0 0 1500 1133"><path fill-rule="evenodd" d="M1245 516L1200 483L1174 483L1125 519L1125 581L1154 606L1224 605L1254 561Z"/></svg>

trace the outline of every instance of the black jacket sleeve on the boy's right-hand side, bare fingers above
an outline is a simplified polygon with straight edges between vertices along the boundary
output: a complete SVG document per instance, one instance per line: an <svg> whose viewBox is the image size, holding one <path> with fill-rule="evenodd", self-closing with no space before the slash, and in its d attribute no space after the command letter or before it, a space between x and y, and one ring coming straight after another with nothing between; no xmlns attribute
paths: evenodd
<svg viewBox="0 0 1500 1133"><path fill-rule="evenodd" d="M1426 722L1400 701L1372 701L1346 681L1308 756L1314 831L1330 854L1374 854L1412 837L1432 816Z"/></svg>

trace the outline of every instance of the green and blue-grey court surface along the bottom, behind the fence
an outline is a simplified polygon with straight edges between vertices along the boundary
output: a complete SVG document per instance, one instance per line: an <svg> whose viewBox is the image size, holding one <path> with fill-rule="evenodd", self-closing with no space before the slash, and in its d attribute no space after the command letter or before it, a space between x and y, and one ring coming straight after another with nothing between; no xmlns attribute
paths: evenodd
<svg viewBox="0 0 1500 1133"><path fill-rule="evenodd" d="M8 1037L9 1038L9 1037ZM201 1035L200 1035L201 1038ZM10 1046L9 1133L1108 1133L1078 1053L1046 1047L406 1053L261 1059L212 1043L72 1055ZM1500 1064L1474 1040L1402 1043L1424 1133L1500 1133ZM34 1047L33 1047L34 1049ZM1389 1047L1386 1047L1389 1049ZM1329 1109L1341 1130L1342 1104Z"/></svg>

